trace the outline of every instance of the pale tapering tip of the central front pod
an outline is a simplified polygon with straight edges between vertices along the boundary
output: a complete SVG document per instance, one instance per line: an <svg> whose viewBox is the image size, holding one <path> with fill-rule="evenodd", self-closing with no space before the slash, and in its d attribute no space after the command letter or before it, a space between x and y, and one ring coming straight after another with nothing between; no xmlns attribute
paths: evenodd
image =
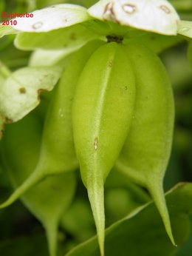
<svg viewBox="0 0 192 256"><path fill-rule="evenodd" d="M100 247L100 256L104 256L105 241L105 209L104 209L104 186L102 183L91 183L87 186L89 201L97 229L97 238Z"/></svg>

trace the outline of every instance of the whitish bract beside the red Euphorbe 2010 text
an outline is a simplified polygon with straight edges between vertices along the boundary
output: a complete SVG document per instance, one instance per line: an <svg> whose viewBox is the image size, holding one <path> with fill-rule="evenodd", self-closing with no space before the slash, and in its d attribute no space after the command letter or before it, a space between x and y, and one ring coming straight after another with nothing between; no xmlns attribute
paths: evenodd
<svg viewBox="0 0 192 256"><path fill-rule="evenodd" d="M14 29L22 32L48 32L61 27L70 27L90 19L86 8L76 4L56 4L35 10L32 17L18 17Z"/></svg>

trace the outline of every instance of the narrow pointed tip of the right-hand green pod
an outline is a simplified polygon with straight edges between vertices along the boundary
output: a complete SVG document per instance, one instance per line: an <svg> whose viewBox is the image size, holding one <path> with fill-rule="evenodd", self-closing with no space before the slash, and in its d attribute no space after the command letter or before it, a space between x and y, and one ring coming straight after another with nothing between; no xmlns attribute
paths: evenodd
<svg viewBox="0 0 192 256"><path fill-rule="evenodd" d="M150 192L152 198L154 199L154 203L156 204L157 209L160 212L162 221L165 226L165 230L168 234L168 237L171 240L171 243L173 243L174 246L177 246L174 240L172 229L171 229L171 220L169 218L168 207L166 205L162 184L157 186L155 186L154 184L151 186L148 186L148 191Z"/></svg>

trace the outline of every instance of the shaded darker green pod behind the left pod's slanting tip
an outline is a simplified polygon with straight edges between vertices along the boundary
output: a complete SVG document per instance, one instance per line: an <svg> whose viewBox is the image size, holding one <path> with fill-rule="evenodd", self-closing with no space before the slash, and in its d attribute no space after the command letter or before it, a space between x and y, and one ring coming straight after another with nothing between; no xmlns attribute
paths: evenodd
<svg viewBox="0 0 192 256"><path fill-rule="evenodd" d="M30 114L7 127L3 140L3 158L14 188L35 168L40 146L41 124L34 115ZM33 186L21 197L24 205L43 223L51 256L56 256L58 221L72 201L75 181L74 172L55 175Z"/></svg>

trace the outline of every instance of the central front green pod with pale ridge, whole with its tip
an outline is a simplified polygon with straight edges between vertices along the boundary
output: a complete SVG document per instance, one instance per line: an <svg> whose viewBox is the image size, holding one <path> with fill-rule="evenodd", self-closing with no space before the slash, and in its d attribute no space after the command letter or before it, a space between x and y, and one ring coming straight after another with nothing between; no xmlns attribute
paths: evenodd
<svg viewBox="0 0 192 256"><path fill-rule="evenodd" d="M126 139L134 110L131 64L117 43L100 47L83 69L75 91L72 124L83 183L104 255L103 184Z"/></svg>

